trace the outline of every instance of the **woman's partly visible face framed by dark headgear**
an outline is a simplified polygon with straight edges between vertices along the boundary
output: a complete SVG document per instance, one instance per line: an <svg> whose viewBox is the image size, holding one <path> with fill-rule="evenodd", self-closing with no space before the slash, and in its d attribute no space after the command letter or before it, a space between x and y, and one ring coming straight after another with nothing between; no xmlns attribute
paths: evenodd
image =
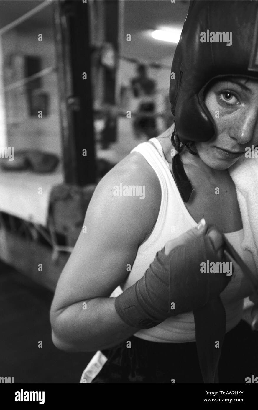
<svg viewBox="0 0 258 410"><path fill-rule="evenodd" d="M258 145L258 81L241 77L222 78L205 93L217 136L196 142L202 161L213 169L228 169Z"/></svg>

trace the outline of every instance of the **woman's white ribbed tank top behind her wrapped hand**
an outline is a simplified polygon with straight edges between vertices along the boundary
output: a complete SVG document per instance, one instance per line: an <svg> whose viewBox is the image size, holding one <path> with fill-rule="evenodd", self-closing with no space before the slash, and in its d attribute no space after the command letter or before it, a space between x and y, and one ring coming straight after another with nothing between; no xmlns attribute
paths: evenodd
<svg viewBox="0 0 258 410"><path fill-rule="evenodd" d="M194 221L185 207L171 174L169 163L164 156L160 141L157 138L152 138L149 141L155 146L147 141L139 144L131 152L142 154L158 176L161 186L160 211L151 235L138 248L130 274L123 285L121 285L123 290L126 290L138 279L142 278L155 258L156 253L165 246L167 241L195 227L198 222ZM243 229L226 233L225 235L251 271L256 273L251 253L243 251L241 247L244 238ZM221 300L226 310L227 332L234 328L241 320L243 298L251 294L249 285L243 277L240 267L234 264L234 268L235 271L231 281L221 293ZM193 312L178 314L175 317L166 319L154 328L139 330L135 333L135 336L153 342L194 342L195 326Z"/></svg>

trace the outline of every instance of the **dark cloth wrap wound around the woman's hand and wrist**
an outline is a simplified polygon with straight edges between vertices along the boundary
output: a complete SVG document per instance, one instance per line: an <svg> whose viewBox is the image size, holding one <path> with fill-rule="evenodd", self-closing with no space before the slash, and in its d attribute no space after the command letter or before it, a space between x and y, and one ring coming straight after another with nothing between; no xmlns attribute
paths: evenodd
<svg viewBox="0 0 258 410"><path fill-rule="evenodd" d="M116 298L116 312L129 326L148 329L170 316L203 307L230 280L226 273L201 273L200 264L207 260L221 261L207 235L191 237L169 255L163 248L144 276Z"/></svg>

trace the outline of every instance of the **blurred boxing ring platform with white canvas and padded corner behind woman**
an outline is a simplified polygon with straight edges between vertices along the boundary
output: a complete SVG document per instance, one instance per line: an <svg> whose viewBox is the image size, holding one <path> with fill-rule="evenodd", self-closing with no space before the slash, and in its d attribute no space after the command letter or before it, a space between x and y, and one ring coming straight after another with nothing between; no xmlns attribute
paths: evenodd
<svg viewBox="0 0 258 410"><path fill-rule="evenodd" d="M64 184L60 169L0 171L0 258L55 290L94 189Z"/></svg>

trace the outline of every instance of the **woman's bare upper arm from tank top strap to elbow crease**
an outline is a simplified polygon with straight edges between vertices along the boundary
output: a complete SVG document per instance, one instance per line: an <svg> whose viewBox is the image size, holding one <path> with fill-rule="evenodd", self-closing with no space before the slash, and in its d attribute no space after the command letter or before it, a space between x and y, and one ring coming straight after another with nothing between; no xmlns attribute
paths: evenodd
<svg viewBox="0 0 258 410"><path fill-rule="evenodd" d="M114 186L144 185L145 198L116 196ZM161 189L144 157L132 153L99 182L84 227L59 278L51 310L96 297L108 297L126 278L137 248L158 217ZM85 228L84 228L85 230Z"/></svg>

